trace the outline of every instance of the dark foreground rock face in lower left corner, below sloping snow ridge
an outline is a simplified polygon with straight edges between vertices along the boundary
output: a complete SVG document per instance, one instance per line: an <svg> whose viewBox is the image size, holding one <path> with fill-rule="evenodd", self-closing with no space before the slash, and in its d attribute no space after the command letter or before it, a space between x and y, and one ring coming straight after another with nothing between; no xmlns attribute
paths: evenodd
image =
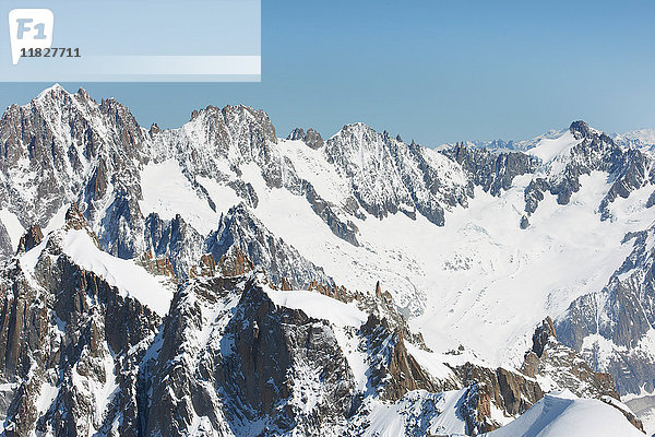
<svg viewBox="0 0 655 437"><path fill-rule="evenodd" d="M76 209L67 216L63 232L85 228ZM133 366L158 316L71 262L59 245L49 239L34 273L19 260L3 273L0 376L15 387L3 393L4 433L135 436Z"/></svg>

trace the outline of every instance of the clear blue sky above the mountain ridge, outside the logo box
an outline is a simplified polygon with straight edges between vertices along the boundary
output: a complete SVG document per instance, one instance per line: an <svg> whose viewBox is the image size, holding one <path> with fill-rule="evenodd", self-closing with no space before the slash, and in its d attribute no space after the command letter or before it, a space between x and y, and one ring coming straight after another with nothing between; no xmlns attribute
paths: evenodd
<svg viewBox="0 0 655 437"><path fill-rule="evenodd" d="M0 84L0 105L47 85ZM243 103L281 137L354 121L429 146L574 119L622 132L655 127L655 1L262 0L261 83L62 85L114 96L144 126Z"/></svg>

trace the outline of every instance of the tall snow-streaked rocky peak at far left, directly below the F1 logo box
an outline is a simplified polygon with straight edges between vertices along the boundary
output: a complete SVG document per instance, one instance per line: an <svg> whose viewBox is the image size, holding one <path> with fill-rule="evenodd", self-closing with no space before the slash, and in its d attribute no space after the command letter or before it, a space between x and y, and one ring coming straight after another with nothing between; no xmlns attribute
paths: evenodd
<svg viewBox="0 0 655 437"><path fill-rule="evenodd" d="M141 197L135 163L143 161L144 137L130 111L114 99L94 102L83 90L60 86L26 106L11 106L0 120L0 193L23 223L45 226L61 208L79 201L94 225L100 213L136 226ZM28 186L21 181L28 181ZM117 199L132 198L117 210ZM114 203L112 204L112 199ZM112 204L108 210L105 205ZM119 203L120 204L120 203ZM139 239L99 227L114 241L112 253L131 257ZM105 234L111 238L105 237Z"/></svg>

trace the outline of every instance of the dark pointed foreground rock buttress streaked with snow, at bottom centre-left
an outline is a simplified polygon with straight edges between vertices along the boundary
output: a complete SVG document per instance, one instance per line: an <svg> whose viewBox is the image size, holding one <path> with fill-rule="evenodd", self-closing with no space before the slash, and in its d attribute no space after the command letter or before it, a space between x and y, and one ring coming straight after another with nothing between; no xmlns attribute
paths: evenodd
<svg viewBox="0 0 655 437"><path fill-rule="evenodd" d="M384 326L368 326L392 335ZM201 429L218 435L228 429L236 435L248 429L265 436L357 435L347 432L348 420L366 414L358 411L362 393L336 330L325 320L274 305L254 276L192 281L176 295L160 352L148 365L157 401L146 435L184 434L198 417ZM367 328L361 330L360 341L368 343ZM356 330L346 332L357 342ZM371 387L381 393L408 383L398 373L406 363L414 363L413 375L427 378L402 349L396 343L379 365L372 364L389 369L382 379L371 377Z"/></svg>

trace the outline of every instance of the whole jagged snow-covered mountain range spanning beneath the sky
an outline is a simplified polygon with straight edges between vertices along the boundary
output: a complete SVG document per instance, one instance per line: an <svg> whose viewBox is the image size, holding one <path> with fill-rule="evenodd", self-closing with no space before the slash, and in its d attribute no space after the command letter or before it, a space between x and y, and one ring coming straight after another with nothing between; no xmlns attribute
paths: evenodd
<svg viewBox="0 0 655 437"><path fill-rule="evenodd" d="M653 156L582 121L511 149L11 106L4 434L477 435L563 389L650 417Z"/></svg>

